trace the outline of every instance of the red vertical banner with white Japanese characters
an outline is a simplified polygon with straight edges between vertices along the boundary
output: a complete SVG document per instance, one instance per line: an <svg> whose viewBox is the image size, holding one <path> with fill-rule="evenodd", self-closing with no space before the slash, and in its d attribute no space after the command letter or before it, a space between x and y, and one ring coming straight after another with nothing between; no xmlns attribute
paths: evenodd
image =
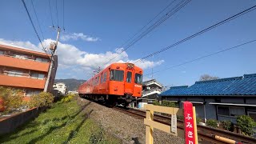
<svg viewBox="0 0 256 144"><path fill-rule="evenodd" d="M195 144L193 105L191 102L183 102L184 130L186 144Z"/></svg>

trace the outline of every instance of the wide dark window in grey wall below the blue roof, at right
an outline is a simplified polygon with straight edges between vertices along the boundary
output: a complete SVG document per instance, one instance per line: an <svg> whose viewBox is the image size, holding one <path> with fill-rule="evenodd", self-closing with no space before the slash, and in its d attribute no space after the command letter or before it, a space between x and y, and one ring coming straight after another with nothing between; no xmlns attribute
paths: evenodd
<svg viewBox="0 0 256 144"><path fill-rule="evenodd" d="M228 106L217 106L218 115L235 117L237 115L246 114L244 107L228 107Z"/></svg>

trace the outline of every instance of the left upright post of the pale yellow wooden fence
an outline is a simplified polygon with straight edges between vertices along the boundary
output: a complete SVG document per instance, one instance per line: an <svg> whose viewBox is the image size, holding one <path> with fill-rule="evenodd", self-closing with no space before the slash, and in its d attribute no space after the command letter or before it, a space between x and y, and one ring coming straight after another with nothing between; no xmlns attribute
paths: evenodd
<svg viewBox="0 0 256 144"><path fill-rule="evenodd" d="M146 119L154 120L154 111L146 110ZM146 144L153 144L153 127L146 125Z"/></svg>

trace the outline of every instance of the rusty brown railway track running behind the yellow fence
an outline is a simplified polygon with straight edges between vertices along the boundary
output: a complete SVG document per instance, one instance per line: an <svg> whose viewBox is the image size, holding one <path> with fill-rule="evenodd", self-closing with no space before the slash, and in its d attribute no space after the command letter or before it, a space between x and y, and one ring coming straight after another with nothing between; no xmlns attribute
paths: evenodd
<svg viewBox="0 0 256 144"><path fill-rule="evenodd" d="M136 109L123 109L121 107L113 107L114 110L118 110L122 113L129 114L130 116L133 116L135 118L146 118L146 111L144 110L136 110ZM166 125L170 125L171 118L159 114L154 114L154 121L161 122ZM182 120L178 120L177 122L177 128L180 130L183 130L183 122ZM218 141L215 136L221 136L224 138L232 139L236 142L242 142L242 143L256 143L256 138L248 137L242 134L236 134L232 133L230 131L226 130L219 130L215 128L211 128L209 126L201 126L198 125L198 141L200 143L223 143L226 144L226 142Z"/></svg>

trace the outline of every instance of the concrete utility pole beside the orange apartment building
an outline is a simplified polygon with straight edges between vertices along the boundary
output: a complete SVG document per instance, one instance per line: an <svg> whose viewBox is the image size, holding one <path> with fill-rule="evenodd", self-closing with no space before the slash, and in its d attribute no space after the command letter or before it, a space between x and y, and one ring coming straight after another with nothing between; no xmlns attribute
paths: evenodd
<svg viewBox="0 0 256 144"><path fill-rule="evenodd" d="M47 90L48 90L51 71L52 71L53 66L54 66L54 55L56 54L56 50L57 50L57 46L58 46L58 38L59 38L59 34L61 33L61 29L58 27L57 31L58 31L58 34L57 34L56 42L54 43L53 47L50 47L50 50L52 50L51 56L50 56L50 68L48 70L48 75L47 75L47 78L46 78L46 84L45 84L45 88L43 90L44 92L47 92Z"/></svg>

